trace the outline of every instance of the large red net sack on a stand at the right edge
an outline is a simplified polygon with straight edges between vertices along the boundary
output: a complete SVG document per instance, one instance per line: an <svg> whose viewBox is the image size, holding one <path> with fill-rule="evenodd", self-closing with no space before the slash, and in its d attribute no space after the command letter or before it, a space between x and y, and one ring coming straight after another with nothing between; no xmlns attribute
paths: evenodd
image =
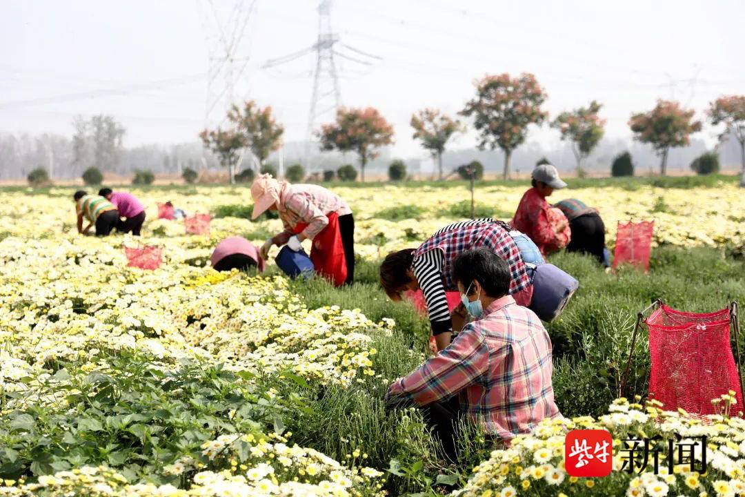
<svg viewBox="0 0 745 497"><path fill-rule="evenodd" d="M709 314L681 312L662 306L647 319L650 330L650 395L666 411L718 414L711 404L729 390L742 410L740 376L729 345L729 309Z"/></svg>

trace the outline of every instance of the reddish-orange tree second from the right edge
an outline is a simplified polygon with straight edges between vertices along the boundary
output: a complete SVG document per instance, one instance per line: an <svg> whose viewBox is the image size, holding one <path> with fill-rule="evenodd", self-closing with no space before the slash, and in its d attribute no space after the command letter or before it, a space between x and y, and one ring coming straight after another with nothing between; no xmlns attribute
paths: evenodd
<svg viewBox="0 0 745 497"><path fill-rule="evenodd" d="M660 157L660 174L668 172L668 152L671 147L691 143L691 133L701 130L701 121L694 121L694 110L685 110L679 102L658 100L648 113L631 116L629 126L634 139L649 143Z"/></svg>

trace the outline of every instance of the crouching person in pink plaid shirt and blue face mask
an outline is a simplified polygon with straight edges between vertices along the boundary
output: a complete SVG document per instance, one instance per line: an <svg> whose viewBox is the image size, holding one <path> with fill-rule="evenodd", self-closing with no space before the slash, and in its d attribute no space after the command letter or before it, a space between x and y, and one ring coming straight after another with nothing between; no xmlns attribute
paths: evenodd
<svg viewBox="0 0 745 497"><path fill-rule="evenodd" d="M551 339L541 320L509 295L510 268L492 250L460 253L453 279L476 318L443 351L390 385L389 405L424 408L449 455L453 422L467 416L509 443L559 417L551 383Z"/></svg>

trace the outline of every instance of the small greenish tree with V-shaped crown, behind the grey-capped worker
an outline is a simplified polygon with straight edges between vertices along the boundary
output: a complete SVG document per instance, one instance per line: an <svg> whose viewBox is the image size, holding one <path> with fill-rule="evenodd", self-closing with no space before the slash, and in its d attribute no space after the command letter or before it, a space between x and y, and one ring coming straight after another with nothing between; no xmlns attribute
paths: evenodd
<svg viewBox="0 0 745 497"><path fill-rule="evenodd" d="M588 107L580 107L571 112L558 115L551 127L555 127L561 133L562 140L571 142L571 151L577 159L577 174L583 175L582 161L597 147L603 138L605 130L605 119L600 118L597 113L603 106L596 101L590 102Z"/></svg>

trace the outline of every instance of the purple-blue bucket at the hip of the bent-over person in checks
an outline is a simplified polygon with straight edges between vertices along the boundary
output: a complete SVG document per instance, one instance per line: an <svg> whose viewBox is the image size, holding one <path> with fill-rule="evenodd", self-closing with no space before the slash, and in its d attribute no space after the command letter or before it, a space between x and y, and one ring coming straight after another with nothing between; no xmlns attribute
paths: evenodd
<svg viewBox="0 0 745 497"><path fill-rule="evenodd" d="M531 311L546 322L553 321L580 287L580 282L553 264L542 264L533 277L533 300Z"/></svg>

